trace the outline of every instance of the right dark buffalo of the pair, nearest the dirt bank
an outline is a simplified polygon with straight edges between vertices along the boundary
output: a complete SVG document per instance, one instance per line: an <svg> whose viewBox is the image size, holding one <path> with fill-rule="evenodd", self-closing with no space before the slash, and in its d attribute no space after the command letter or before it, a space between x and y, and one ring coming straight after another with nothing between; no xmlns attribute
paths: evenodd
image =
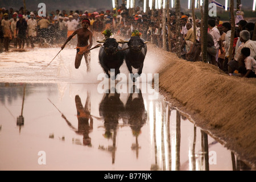
<svg viewBox="0 0 256 182"><path fill-rule="evenodd" d="M138 75L141 76L144 59L147 53L146 43L147 42L144 42L139 36L131 36L131 38L126 40L122 45L122 49L125 50L125 62L131 74L133 73L133 67L138 69Z"/></svg>

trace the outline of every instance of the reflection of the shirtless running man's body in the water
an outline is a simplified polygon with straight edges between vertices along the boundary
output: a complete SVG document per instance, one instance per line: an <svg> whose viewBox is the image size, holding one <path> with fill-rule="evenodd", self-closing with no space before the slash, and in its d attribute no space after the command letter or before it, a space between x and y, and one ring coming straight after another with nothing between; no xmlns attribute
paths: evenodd
<svg viewBox="0 0 256 182"><path fill-rule="evenodd" d="M87 98L85 106L82 106L81 98L79 96L75 97L76 109L77 109L77 119L78 119L78 134L83 134L83 143L85 145L91 144L91 139L89 133L93 130L93 118L90 115L90 94L87 93ZM90 124L89 124L90 119Z"/></svg>

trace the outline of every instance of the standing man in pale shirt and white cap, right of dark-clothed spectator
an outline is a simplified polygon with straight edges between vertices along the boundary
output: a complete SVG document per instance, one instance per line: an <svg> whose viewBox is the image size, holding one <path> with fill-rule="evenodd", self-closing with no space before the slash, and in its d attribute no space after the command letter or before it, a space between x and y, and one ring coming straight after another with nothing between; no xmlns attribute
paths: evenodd
<svg viewBox="0 0 256 182"><path fill-rule="evenodd" d="M30 40L31 47L34 48L35 39L37 35L38 23L35 20L35 14L30 13L30 19L27 20L28 39Z"/></svg>

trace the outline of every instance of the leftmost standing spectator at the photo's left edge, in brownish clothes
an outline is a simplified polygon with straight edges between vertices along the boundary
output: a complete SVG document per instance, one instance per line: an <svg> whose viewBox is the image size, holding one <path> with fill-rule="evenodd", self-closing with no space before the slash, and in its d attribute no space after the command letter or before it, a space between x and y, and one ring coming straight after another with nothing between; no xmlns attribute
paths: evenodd
<svg viewBox="0 0 256 182"><path fill-rule="evenodd" d="M12 39L11 36L11 27L10 22L8 20L8 14L3 14L4 19L1 21L1 26L3 30L3 45L5 47L5 51L9 51L9 42Z"/></svg>

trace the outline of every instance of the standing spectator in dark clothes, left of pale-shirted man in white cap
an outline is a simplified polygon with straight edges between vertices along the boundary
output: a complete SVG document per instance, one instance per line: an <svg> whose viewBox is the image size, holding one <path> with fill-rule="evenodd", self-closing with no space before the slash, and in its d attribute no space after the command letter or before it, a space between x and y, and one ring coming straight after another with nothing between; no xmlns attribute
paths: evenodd
<svg viewBox="0 0 256 182"><path fill-rule="evenodd" d="M18 38L19 49L24 48L27 35L27 22L23 19L23 15L19 14L19 20L16 24L16 34Z"/></svg>

